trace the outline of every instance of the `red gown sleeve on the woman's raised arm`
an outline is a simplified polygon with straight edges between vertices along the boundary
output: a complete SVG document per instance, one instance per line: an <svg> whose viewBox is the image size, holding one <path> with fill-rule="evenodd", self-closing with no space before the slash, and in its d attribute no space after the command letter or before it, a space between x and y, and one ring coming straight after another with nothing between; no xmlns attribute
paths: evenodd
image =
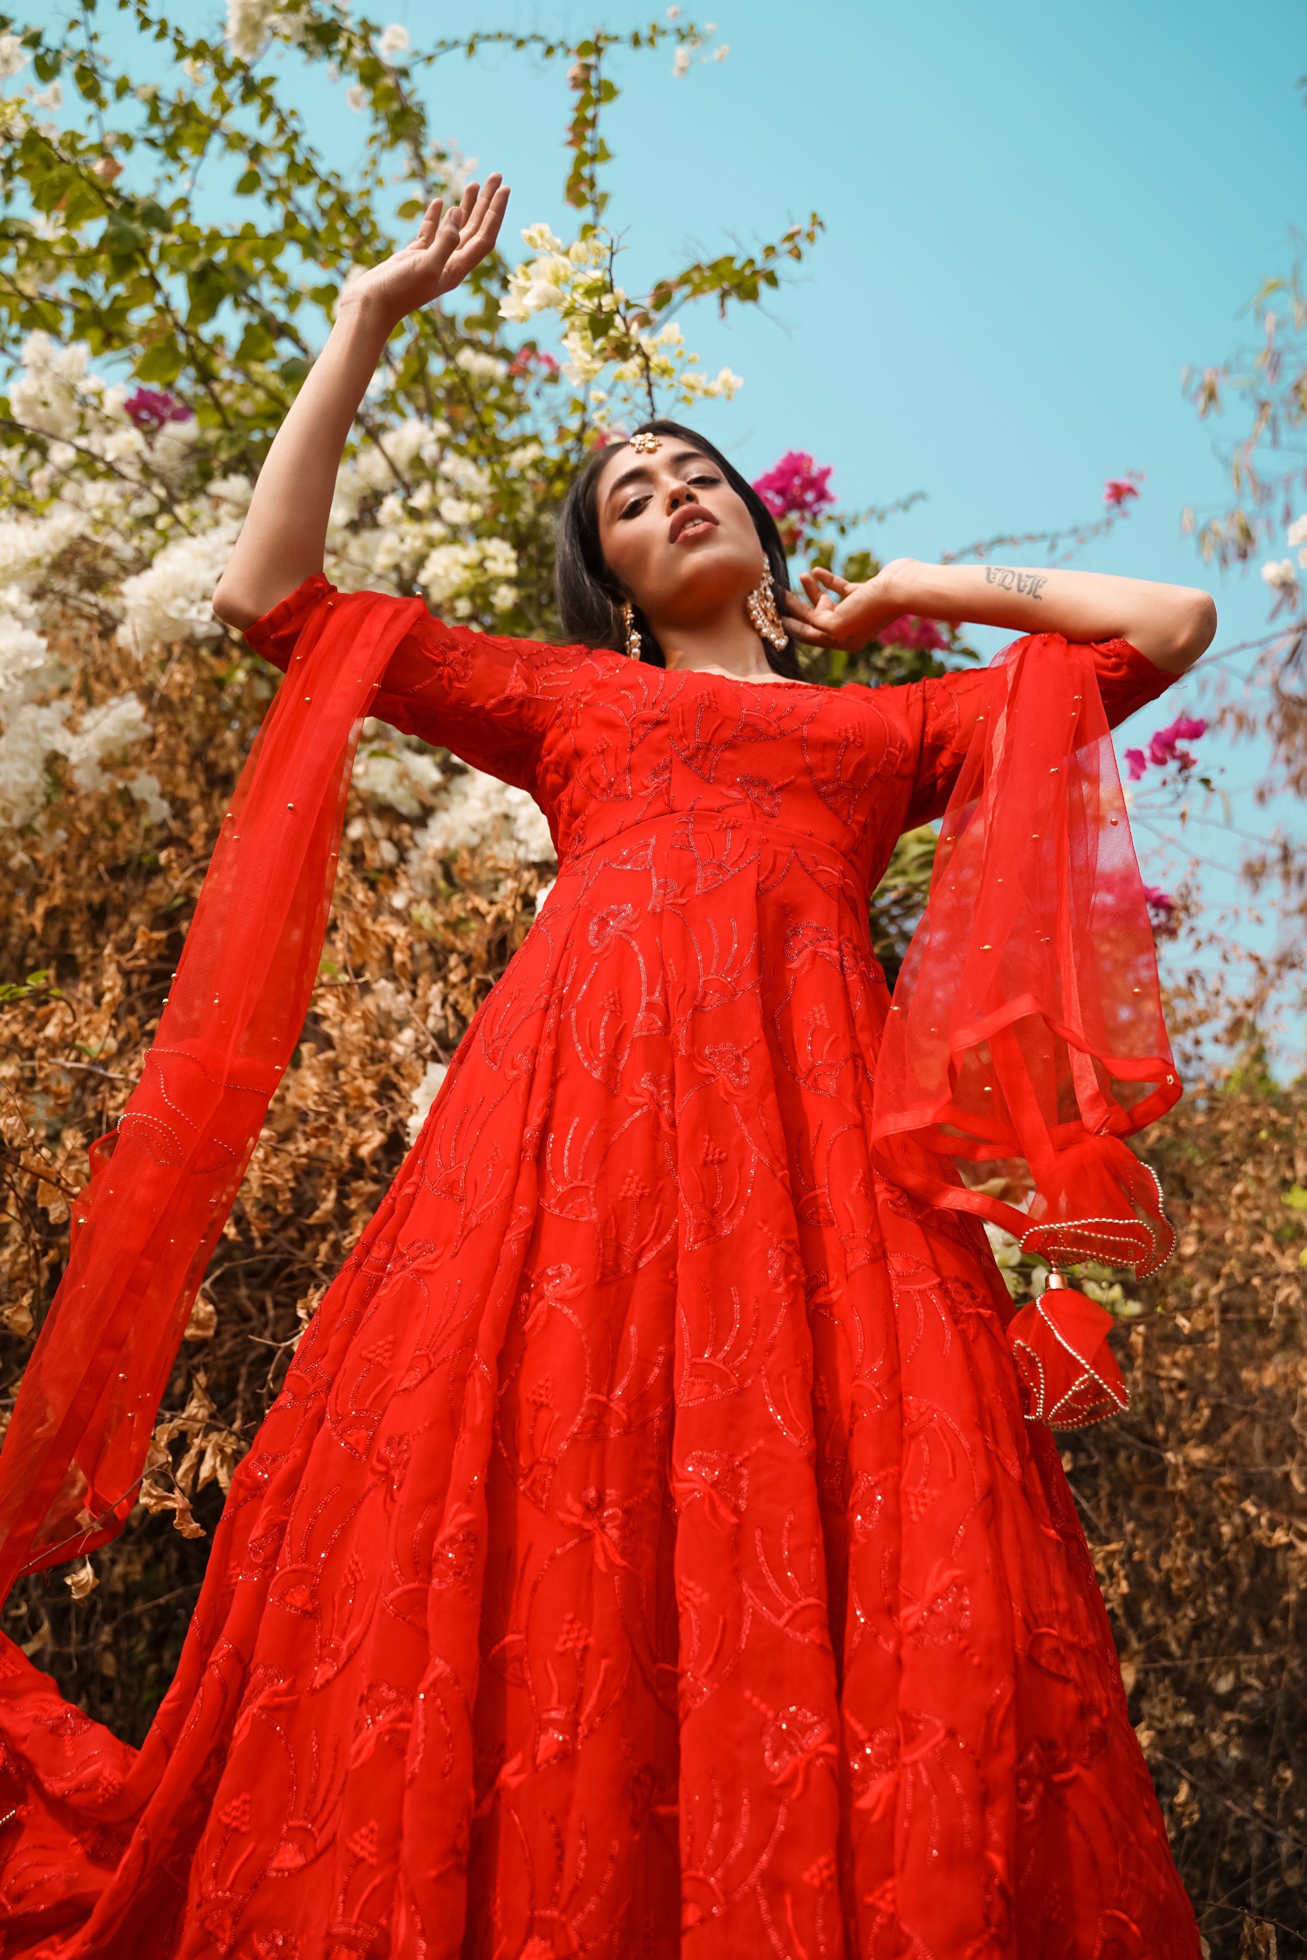
<svg viewBox="0 0 1307 1960"><path fill-rule="evenodd" d="M331 592L321 574L308 578L249 627L247 643L286 672L300 633ZM502 782L535 790L541 741L586 659L584 647L474 633L423 610L392 653L368 711Z"/></svg>

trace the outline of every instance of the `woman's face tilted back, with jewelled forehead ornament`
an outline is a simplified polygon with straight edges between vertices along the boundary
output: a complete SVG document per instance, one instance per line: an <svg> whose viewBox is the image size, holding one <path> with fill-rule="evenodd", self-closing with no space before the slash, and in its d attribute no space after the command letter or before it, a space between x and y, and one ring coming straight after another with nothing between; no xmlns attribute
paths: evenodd
<svg viewBox="0 0 1307 1960"><path fill-rule="evenodd" d="M600 545L658 639L745 598L762 576L752 517L717 465L678 437L623 443L596 488Z"/></svg>

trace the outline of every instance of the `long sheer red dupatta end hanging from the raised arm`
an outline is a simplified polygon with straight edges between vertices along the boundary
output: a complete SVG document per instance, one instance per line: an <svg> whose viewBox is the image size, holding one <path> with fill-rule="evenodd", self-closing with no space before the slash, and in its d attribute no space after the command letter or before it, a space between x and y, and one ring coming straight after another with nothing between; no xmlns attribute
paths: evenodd
<svg viewBox="0 0 1307 1960"><path fill-rule="evenodd" d="M116 1139L92 1147L73 1252L0 1456L0 1595L112 1539L327 929L363 717L419 600L321 602L223 819L180 966ZM112 1152L110 1152L112 1147Z"/></svg>

